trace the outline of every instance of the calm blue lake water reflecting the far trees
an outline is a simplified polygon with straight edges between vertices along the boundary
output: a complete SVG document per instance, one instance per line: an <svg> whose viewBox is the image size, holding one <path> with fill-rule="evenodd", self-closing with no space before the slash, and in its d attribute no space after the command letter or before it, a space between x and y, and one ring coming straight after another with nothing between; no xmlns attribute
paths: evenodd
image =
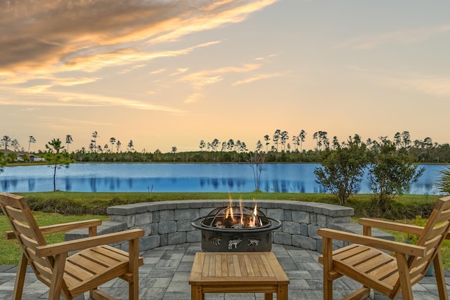
<svg viewBox="0 0 450 300"><path fill-rule="evenodd" d="M261 190L283 193L323 193L315 182L319 164L265 164ZM411 194L437 194L435 181L442 165L424 165L425 173ZM252 192L253 169L248 164L70 164L56 171L56 189L72 192ZM5 167L0 190L8 193L53 190L49 166ZM370 193L368 181L358 193Z"/></svg>

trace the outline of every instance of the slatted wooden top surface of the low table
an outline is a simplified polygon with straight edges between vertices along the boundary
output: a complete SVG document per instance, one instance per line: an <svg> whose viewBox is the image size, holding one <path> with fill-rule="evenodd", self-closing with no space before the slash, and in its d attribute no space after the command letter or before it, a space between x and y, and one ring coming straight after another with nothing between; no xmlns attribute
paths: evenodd
<svg viewBox="0 0 450 300"><path fill-rule="evenodd" d="M191 285L289 284L272 252L198 252L195 254Z"/></svg>

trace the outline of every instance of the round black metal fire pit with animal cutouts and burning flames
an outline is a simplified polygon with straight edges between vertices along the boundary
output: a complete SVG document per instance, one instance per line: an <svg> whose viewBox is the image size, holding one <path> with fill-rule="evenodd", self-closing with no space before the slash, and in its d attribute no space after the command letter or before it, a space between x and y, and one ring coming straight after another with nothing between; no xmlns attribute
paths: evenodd
<svg viewBox="0 0 450 300"><path fill-rule="evenodd" d="M265 216L255 207L229 205L199 216L192 226L202 230L204 252L269 252L272 230L281 222Z"/></svg>

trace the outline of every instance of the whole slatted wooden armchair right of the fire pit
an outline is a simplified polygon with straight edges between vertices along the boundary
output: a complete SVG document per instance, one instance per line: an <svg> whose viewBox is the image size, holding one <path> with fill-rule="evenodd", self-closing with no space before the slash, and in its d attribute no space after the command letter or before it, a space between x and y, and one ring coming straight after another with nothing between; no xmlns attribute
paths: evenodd
<svg viewBox="0 0 450 300"><path fill-rule="evenodd" d="M442 197L425 228L373 219L359 219L364 235L319 229L323 237L323 299L333 299L333 280L342 275L363 287L345 299L365 299L371 289L395 299L413 299L411 287L419 282L434 263L439 299L448 299L440 247L450 238L450 197ZM371 228L385 228L420 235L416 244L392 242L371 237ZM354 244L333 251L333 239ZM384 250L384 251L383 251ZM388 254L393 252L394 256Z"/></svg>

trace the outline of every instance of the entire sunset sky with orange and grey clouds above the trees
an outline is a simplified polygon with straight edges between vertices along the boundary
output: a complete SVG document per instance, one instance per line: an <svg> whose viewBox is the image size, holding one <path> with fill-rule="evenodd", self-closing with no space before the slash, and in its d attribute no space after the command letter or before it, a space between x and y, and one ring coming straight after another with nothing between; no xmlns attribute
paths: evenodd
<svg viewBox="0 0 450 300"><path fill-rule="evenodd" d="M0 136L450 143L450 1L0 0Z"/></svg>

